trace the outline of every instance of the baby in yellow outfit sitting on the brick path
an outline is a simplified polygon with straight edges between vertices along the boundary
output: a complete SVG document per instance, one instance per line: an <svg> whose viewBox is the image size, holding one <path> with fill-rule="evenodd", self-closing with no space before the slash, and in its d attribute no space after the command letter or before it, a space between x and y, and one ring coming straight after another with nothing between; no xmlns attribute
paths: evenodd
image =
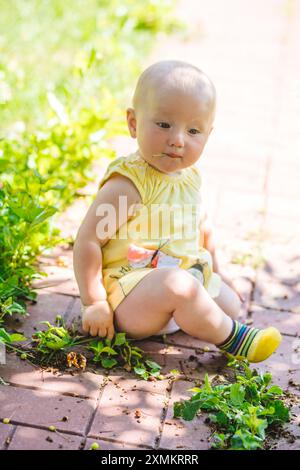
<svg viewBox="0 0 300 470"><path fill-rule="evenodd" d="M280 344L276 328L237 321L239 294L219 272L195 165L215 107L213 83L191 64L161 61L140 76L127 109L138 150L108 166L74 245L84 332L181 329L250 362Z"/></svg>

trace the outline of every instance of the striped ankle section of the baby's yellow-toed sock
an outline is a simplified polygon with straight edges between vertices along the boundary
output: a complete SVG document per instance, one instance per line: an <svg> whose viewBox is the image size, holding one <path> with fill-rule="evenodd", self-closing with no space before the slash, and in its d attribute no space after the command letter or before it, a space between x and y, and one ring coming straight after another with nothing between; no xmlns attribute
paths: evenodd
<svg viewBox="0 0 300 470"><path fill-rule="evenodd" d="M242 323L236 320L232 320L232 322L233 326L230 335L223 343L217 346L222 351L226 351L233 356L247 358L249 348L260 330L242 325Z"/></svg>

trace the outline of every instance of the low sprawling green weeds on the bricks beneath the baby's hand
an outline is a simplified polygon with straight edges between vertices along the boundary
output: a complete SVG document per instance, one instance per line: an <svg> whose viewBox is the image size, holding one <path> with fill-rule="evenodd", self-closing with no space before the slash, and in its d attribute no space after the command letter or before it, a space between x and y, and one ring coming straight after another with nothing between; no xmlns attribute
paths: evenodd
<svg viewBox="0 0 300 470"><path fill-rule="evenodd" d="M56 325L51 325L48 321L40 323L45 324L47 329L32 335L31 347L24 347L22 350L12 348L23 360L33 361L36 365L53 365L64 369L66 366L74 366L84 370L87 352L91 351L89 364L100 364L104 369L123 367L144 380L162 377L161 366L145 356L142 349L133 346L133 340L126 339L125 333L117 333L113 340L96 340L77 336L74 325L67 328L60 315L56 318ZM0 341L1 334L8 343L26 339L21 335L10 336L4 329L0 329Z"/></svg>

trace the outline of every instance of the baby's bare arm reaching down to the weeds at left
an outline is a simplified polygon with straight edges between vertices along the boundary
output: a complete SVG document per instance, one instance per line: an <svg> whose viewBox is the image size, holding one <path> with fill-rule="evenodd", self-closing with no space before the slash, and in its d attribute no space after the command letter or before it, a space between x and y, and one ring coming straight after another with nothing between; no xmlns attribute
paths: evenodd
<svg viewBox="0 0 300 470"><path fill-rule="evenodd" d="M121 195L127 196L127 210L119 210ZM134 184L128 178L115 174L98 191L77 233L73 253L74 272L83 305L83 330L92 336L112 339L114 335L113 311L103 285L101 248L128 220L130 206L139 202L140 195ZM116 220L110 221L110 231L105 236L97 234L97 224L102 216L97 216L96 210L101 204L110 204L116 214Z"/></svg>

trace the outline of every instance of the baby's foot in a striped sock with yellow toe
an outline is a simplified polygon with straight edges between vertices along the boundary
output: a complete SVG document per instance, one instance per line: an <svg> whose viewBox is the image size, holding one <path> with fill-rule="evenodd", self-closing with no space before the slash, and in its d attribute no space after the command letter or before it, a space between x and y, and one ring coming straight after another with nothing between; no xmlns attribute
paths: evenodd
<svg viewBox="0 0 300 470"><path fill-rule="evenodd" d="M233 328L229 337L217 346L237 359L261 362L276 351L281 339L281 334L273 326L259 330L233 320Z"/></svg>

